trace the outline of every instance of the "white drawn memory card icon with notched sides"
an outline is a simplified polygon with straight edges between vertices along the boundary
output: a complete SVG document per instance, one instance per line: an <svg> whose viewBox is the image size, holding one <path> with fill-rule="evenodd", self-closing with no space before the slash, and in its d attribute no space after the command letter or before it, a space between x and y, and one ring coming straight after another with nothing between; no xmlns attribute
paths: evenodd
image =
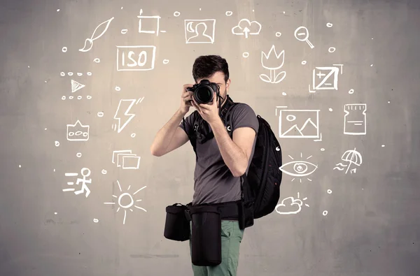
<svg viewBox="0 0 420 276"><path fill-rule="evenodd" d="M344 105L344 134L366 134L366 103L349 103Z"/></svg>

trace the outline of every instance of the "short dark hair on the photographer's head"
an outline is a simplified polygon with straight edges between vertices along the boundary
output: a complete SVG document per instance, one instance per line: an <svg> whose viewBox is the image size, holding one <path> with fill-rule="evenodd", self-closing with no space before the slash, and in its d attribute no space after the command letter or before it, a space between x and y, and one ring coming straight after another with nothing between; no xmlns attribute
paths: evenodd
<svg viewBox="0 0 420 276"><path fill-rule="evenodd" d="M200 56L195 59L193 64L193 78L209 78L214 73L221 71L225 74L225 83L229 80L229 66L226 59L218 55Z"/></svg>

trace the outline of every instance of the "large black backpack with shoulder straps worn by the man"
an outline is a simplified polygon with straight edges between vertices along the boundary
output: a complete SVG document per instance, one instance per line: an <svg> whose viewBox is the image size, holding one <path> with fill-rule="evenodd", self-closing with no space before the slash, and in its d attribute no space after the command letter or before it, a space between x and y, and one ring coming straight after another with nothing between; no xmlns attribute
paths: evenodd
<svg viewBox="0 0 420 276"><path fill-rule="evenodd" d="M225 124L226 130L232 138L232 112L237 103L234 103L228 96L227 103L221 110L221 118ZM195 135L190 135L190 143L193 145L197 158L196 143L197 137L202 136L198 133L200 126L203 126L203 119L195 110L195 121L193 131ZM258 219L273 212L280 198L281 184L281 147L279 141L274 135L271 126L260 115L257 115L260 126L258 127L257 140L251 164L248 168L248 175L242 177L244 183L248 185L248 200L253 201L253 217ZM206 126L207 122L204 122ZM213 133L206 136L206 140L214 137Z"/></svg>

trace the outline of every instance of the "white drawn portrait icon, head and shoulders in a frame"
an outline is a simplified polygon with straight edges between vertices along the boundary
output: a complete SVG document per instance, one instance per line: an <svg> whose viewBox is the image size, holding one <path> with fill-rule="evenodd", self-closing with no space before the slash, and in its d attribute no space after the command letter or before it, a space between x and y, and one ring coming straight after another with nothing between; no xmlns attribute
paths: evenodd
<svg viewBox="0 0 420 276"><path fill-rule="evenodd" d="M184 20L186 43L214 43L215 19Z"/></svg>

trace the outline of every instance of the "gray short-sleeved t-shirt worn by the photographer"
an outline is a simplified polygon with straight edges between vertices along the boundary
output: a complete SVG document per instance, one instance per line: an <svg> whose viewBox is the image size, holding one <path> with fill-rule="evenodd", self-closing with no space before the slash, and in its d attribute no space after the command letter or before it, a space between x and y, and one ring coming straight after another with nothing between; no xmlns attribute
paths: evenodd
<svg viewBox="0 0 420 276"><path fill-rule="evenodd" d="M185 118L186 129L183 122L179 124L186 133L193 133L195 114L193 112ZM258 133L258 119L253 109L246 103L238 103L232 112L232 131L239 127L249 126ZM209 126L211 131L211 127ZM189 132L191 131L191 132ZM253 142L251 157L249 158L246 173L255 150L256 134ZM194 172L193 205L202 203L222 203L238 201L241 199L241 177L234 177L219 150L216 138L204 144L197 143L197 162Z"/></svg>

